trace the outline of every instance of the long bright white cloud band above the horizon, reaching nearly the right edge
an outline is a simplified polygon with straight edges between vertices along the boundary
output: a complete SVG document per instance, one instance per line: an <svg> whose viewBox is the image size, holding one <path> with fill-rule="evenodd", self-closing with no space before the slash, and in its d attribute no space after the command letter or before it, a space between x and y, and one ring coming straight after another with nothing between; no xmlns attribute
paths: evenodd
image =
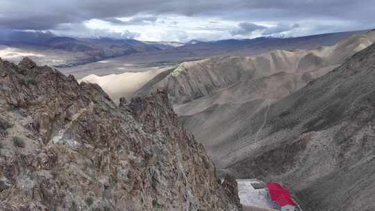
<svg viewBox="0 0 375 211"><path fill-rule="evenodd" d="M305 19L298 22L240 22L221 17L138 14L113 19L90 19L81 24L60 24L57 35L112 37L144 41L225 40L259 36L296 37L317 33L356 30L358 22L335 19Z"/></svg>

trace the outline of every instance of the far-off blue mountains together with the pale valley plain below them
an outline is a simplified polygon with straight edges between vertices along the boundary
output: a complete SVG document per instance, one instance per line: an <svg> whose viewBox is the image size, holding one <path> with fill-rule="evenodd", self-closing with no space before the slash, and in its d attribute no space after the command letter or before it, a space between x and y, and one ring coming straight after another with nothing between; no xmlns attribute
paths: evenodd
<svg viewBox="0 0 375 211"><path fill-rule="evenodd" d="M128 71L147 71L149 67L174 67L184 61L202 58L254 56L278 49L315 49L323 45L333 45L344 37L364 32L187 44L103 38L74 39L44 33L17 33L3 40L0 37L0 56L13 62L19 62L24 56L28 56L38 65L58 67L65 74L83 78L90 74L104 76Z"/></svg>

